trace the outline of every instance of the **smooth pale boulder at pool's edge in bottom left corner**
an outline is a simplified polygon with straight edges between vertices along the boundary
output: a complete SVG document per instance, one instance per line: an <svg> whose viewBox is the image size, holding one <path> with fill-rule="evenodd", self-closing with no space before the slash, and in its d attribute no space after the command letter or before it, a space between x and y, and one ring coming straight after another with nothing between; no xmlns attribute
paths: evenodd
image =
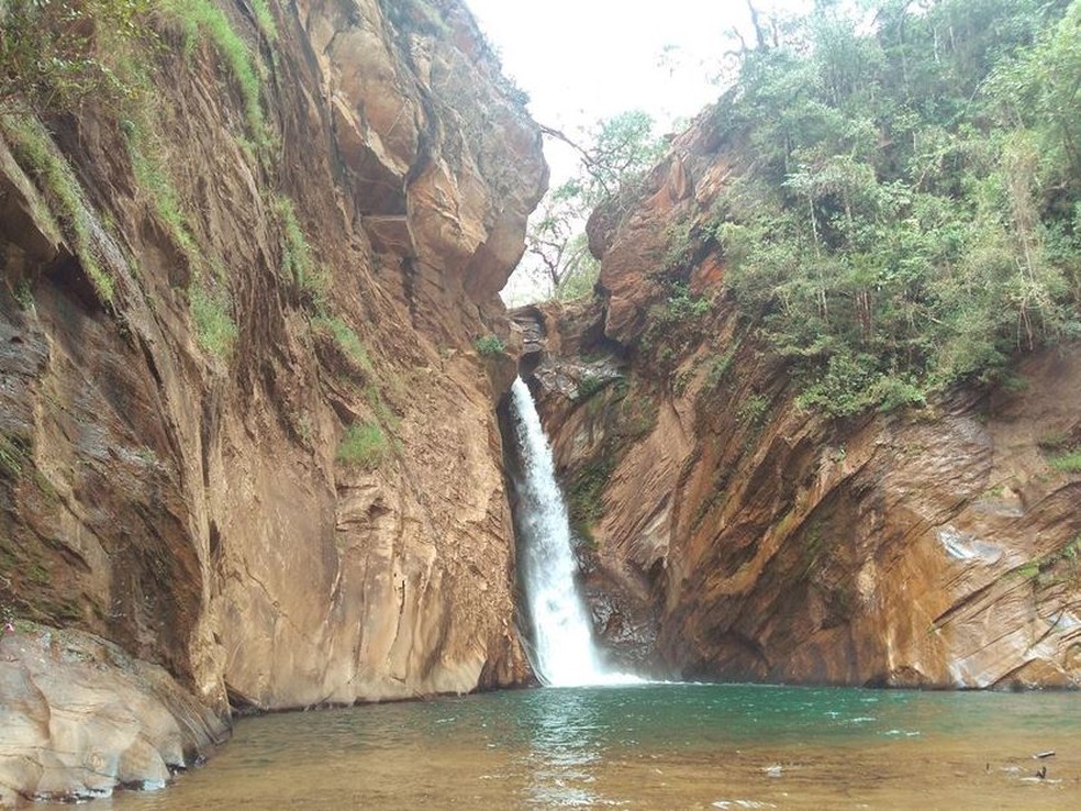
<svg viewBox="0 0 1081 811"><path fill-rule="evenodd" d="M0 806L160 788L229 735L161 667L77 631L0 638Z"/></svg>

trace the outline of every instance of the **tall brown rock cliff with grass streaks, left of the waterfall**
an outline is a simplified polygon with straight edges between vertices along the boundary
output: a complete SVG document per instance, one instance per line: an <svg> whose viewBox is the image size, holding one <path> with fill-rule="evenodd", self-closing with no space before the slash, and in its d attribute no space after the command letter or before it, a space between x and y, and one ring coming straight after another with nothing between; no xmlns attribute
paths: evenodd
<svg viewBox="0 0 1081 811"><path fill-rule="evenodd" d="M521 93L458 0L152 5L134 109L0 127L9 635L221 715L520 679L473 342L547 182Z"/></svg>

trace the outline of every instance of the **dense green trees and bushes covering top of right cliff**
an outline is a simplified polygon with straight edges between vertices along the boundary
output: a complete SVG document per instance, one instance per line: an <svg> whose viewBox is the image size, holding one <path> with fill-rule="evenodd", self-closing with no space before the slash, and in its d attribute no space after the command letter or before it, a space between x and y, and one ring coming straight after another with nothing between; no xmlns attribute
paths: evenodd
<svg viewBox="0 0 1081 811"><path fill-rule="evenodd" d="M717 246L838 416L1081 334L1081 2L815 5L744 52L715 116L746 170L670 255Z"/></svg>

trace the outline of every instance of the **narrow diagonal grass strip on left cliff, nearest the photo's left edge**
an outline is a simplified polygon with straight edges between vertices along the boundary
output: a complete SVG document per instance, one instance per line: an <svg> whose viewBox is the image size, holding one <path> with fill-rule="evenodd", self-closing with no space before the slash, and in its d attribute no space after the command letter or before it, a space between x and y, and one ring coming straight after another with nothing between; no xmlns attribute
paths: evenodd
<svg viewBox="0 0 1081 811"><path fill-rule="evenodd" d="M111 303L113 279L98 258L92 238L93 220L67 160L33 115L0 114L0 130L7 136L15 160L37 179L48 199L49 209L58 214L98 297L102 302Z"/></svg>

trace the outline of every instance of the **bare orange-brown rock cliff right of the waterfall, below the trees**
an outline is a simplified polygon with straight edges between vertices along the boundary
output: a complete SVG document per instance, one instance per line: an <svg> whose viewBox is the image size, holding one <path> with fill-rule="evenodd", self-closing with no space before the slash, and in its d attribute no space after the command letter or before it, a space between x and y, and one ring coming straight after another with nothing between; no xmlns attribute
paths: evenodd
<svg viewBox="0 0 1081 811"><path fill-rule="evenodd" d="M750 159L713 121L594 213L594 303L515 313L613 655L699 678L1078 687L1081 476L1051 464L1081 440L1077 346L1018 360L1010 390L802 412L717 248L691 242L669 284L673 224L691 232Z"/></svg>

